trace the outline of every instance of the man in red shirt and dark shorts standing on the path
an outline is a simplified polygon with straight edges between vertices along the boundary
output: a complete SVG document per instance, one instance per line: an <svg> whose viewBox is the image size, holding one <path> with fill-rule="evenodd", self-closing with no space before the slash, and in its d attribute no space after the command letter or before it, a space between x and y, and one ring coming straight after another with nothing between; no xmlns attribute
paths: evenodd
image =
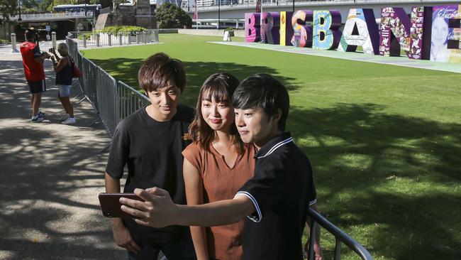
<svg viewBox="0 0 461 260"><path fill-rule="evenodd" d="M40 102L42 99L42 92L46 91L45 86L45 71L43 70L43 60L50 58L48 53L40 53L40 48L36 43L35 33L33 31L26 31L26 41L21 43L19 50L23 56L24 74L29 85L30 102L32 103L32 121L43 121L44 113L40 112Z"/></svg>

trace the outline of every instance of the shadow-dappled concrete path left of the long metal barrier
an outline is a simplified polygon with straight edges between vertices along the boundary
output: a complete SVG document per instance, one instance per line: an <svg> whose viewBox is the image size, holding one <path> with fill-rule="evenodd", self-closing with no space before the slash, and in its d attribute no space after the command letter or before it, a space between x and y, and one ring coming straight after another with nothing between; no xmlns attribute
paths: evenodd
<svg viewBox="0 0 461 260"><path fill-rule="evenodd" d="M77 124L60 124L64 110L49 60L45 68L46 120L32 123L21 55L11 45L0 48L0 259L126 259L97 198L108 157L99 151L109 135L100 122L90 125L91 105L75 99Z"/></svg>

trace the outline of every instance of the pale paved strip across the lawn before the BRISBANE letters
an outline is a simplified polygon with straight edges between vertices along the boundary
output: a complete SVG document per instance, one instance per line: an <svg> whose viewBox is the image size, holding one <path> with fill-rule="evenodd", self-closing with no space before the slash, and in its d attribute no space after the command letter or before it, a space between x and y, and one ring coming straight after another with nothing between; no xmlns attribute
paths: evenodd
<svg viewBox="0 0 461 260"><path fill-rule="evenodd" d="M263 50L282 51L284 53L299 53L304 55L323 56L345 60L357 60L367 63L381 63L387 65L397 65L404 67L417 67L427 70L441 70L448 72L461 73L461 64L437 63L431 60L411 60L406 57L384 57L380 55L369 55L364 53L345 53L337 50L313 50L312 48L296 48L293 46L281 46L264 43L245 43L245 42L213 42L225 45L234 45L246 48L257 48Z"/></svg>

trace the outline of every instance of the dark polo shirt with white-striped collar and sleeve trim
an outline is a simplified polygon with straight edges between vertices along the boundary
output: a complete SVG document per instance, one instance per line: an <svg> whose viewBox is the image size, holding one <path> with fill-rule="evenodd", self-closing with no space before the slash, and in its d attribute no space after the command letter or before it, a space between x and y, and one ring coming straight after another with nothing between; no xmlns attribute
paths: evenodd
<svg viewBox="0 0 461 260"><path fill-rule="evenodd" d="M243 229L243 259L302 259L307 210L316 202L309 158L289 133L268 141L255 158L254 177L237 193L256 209Z"/></svg>

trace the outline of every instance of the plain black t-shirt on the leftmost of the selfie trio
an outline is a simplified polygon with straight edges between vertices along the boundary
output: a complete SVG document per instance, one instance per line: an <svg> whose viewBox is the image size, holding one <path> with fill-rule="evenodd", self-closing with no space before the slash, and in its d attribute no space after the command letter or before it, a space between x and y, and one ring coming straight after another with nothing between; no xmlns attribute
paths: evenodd
<svg viewBox="0 0 461 260"><path fill-rule="evenodd" d="M158 187L167 190L174 203L186 204L182 150L191 143L188 127L193 117L194 109L179 104L170 121L152 119L145 107L123 119L113 134L106 173L120 179L127 165L124 193L133 193L135 188ZM144 227L131 219L124 219L123 223L138 242L145 239L172 242L179 239L182 232L189 232L189 227Z"/></svg>

